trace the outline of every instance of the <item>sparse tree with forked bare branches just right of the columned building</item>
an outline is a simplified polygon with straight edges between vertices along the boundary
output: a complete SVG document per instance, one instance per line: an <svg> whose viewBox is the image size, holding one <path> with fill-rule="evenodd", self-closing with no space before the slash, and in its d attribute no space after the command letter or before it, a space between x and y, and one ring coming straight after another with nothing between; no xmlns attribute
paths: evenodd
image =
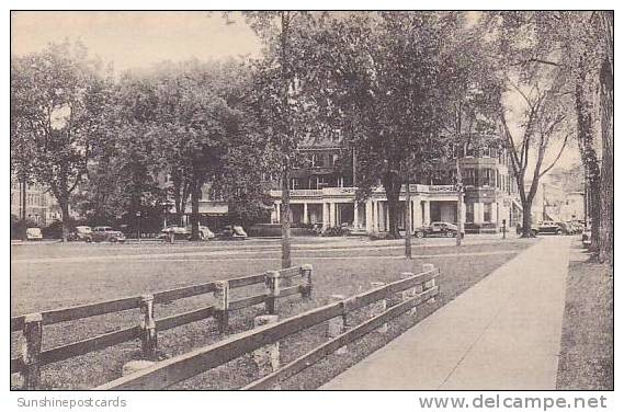
<svg viewBox="0 0 624 412"><path fill-rule="evenodd" d="M556 165L574 133L568 70L559 64L534 61L535 50L545 49L548 36L543 16L509 12L489 19L507 89L498 117L522 203L523 237L531 236L531 208L540 180ZM558 61L560 54L553 50L549 59Z"/></svg>

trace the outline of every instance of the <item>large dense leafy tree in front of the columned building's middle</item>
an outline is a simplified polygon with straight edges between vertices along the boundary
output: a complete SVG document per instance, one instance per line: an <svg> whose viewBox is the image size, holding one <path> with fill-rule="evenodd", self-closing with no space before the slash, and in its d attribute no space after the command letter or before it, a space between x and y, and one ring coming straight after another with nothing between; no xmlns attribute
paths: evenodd
<svg viewBox="0 0 624 412"><path fill-rule="evenodd" d="M440 50L446 13L337 13L316 36L319 115L344 129L358 152L359 198L379 183L389 233L399 236L399 195L439 158L442 105ZM332 118L333 117L333 118Z"/></svg>

